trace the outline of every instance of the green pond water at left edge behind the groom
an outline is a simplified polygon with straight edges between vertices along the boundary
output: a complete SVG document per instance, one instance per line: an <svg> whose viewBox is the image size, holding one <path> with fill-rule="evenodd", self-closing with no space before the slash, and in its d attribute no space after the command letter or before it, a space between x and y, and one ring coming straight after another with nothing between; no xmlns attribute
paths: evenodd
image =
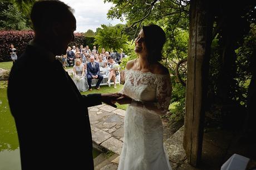
<svg viewBox="0 0 256 170"><path fill-rule="evenodd" d="M9 110L7 84L0 81L0 169L21 170L18 135ZM100 154L93 149L93 158Z"/></svg>

